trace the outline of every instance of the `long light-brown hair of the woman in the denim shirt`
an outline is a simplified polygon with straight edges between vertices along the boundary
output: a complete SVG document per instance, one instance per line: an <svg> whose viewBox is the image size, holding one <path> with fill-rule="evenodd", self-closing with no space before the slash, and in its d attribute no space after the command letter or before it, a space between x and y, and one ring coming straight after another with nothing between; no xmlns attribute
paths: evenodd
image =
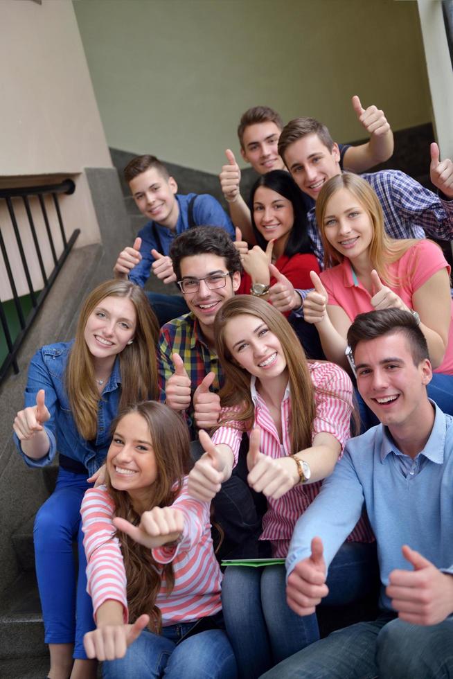
<svg viewBox="0 0 453 679"><path fill-rule="evenodd" d="M136 311L134 342L119 354L121 400L119 408L145 398L157 398L156 345L159 324L148 299L138 285L114 279L101 283L88 295L82 306L74 344L66 364L66 391L75 425L84 439L94 439L98 429L98 404L93 357L85 342L87 320L105 297L126 297Z"/></svg>

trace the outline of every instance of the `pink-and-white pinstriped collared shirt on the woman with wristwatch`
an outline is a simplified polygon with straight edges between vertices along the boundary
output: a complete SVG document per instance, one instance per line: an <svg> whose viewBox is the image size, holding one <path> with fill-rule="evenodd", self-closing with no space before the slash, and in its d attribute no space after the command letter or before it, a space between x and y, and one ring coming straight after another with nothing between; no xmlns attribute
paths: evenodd
<svg viewBox="0 0 453 679"><path fill-rule="evenodd" d="M350 415L353 409L353 385L343 369L334 363L312 362L308 364L314 385L316 417L313 422L312 439L316 434L326 432L332 434L343 448L350 437ZM293 455L298 450L291 450L290 421L291 394L287 386L281 404L282 443L278 436L274 420L269 409L256 391L254 377L251 378L250 393L255 405L255 425L260 427L260 451L274 459ZM222 416L222 414L220 415ZM219 427L213 435L214 443L224 443L233 451L235 464L244 423L231 422L231 426ZM341 457L340 455L340 457ZM319 493L321 481L313 484L298 485L285 493L278 500L267 498L267 512L263 518L263 533L260 540L271 540L272 555L285 557L292 538L292 531L299 516L307 509L310 502ZM353 542L373 542L374 536L368 519L362 518L350 534L348 540Z"/></svg>

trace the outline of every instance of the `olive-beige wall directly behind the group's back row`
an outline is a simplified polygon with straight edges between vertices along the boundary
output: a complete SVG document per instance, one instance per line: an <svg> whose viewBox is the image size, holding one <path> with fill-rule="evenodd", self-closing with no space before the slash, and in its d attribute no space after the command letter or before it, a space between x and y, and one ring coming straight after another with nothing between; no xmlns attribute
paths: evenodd
<svg viewBox="0 0 453 679"><path fill-rule="evenodd" d="M359 139L359 94L398 130L431 120L416 1L75 0L109 145L217 173L265 103Z"/></svg>

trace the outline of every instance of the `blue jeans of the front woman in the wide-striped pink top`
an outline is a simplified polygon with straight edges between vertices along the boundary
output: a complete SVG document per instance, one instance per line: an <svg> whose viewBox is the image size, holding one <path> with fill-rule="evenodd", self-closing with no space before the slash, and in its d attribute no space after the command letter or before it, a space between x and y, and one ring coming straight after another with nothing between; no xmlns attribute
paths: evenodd
<svg viewBox="0 0 453 679"><path fill-rule="evenodd" d="M236 679L236 660L224 630L181 640L193 625L164 627L161 636L143 630L124 658L103 663L104 679Z"/></svg>

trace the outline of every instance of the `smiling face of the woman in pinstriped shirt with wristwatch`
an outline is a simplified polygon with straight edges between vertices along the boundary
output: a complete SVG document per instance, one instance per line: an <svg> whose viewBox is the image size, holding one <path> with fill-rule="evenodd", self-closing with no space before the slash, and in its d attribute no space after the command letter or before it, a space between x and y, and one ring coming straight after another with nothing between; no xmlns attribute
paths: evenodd
<svg viewBox="0 0 453 679"><path fill-rule="evenodd" d="M231 358L260 382L282 376L287 380L287 364L278 337L265 322L249 314L235 316L224 329Z"/></svg>

